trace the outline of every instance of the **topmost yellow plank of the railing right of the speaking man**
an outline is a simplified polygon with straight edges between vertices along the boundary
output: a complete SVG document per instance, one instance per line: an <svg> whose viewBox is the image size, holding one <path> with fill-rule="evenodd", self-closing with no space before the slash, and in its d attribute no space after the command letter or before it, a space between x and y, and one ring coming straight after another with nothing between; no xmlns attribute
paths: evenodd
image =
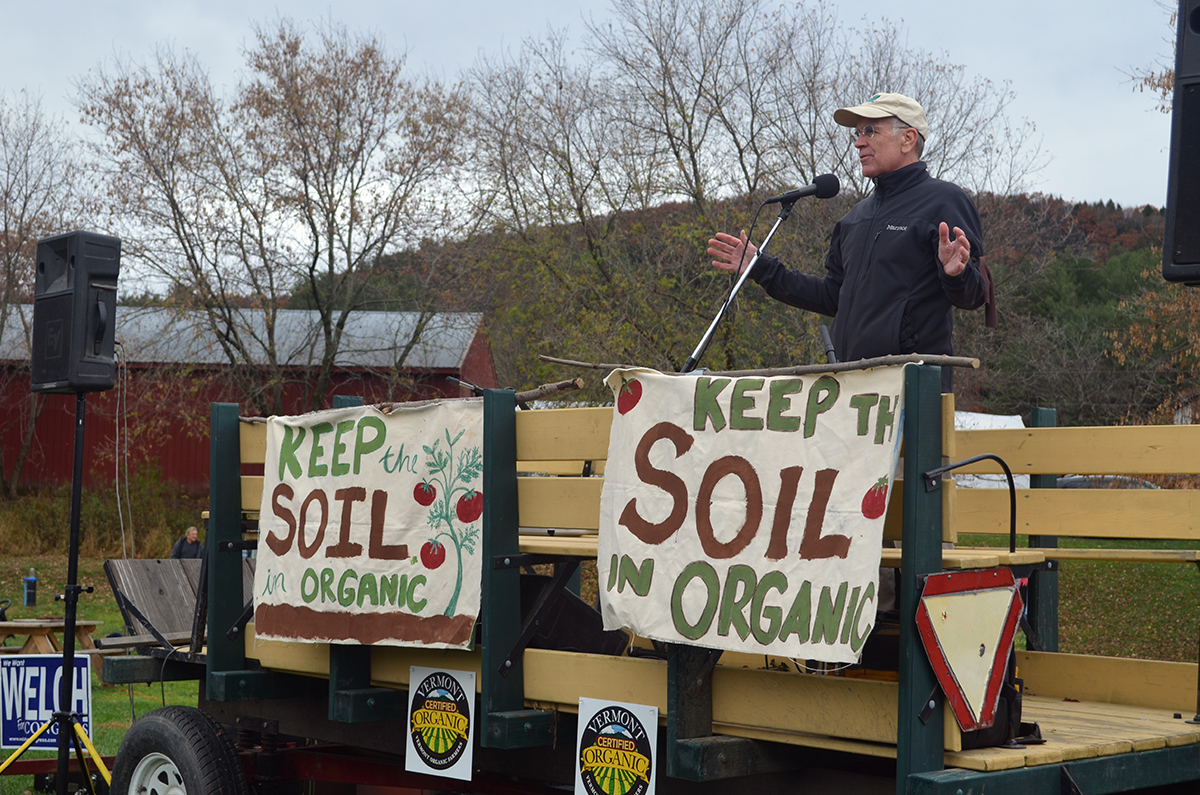
<svg viewBox="0 0 1200 795"><path fill-rule="evenodd" d="M1200 472L1200 425L1025 428L958 431L958 460L998 455L1013 474L1177 474ZM1003 472L995 461L959 473Z"/></svg>

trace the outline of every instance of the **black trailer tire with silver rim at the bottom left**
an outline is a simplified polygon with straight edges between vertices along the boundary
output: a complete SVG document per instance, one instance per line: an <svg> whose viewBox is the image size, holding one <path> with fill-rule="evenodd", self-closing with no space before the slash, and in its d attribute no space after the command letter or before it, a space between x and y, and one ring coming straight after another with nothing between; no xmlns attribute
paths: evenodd
<svg viewBox="0 0 1200 795"><path fill-rule="evenodd" d="M134 722L113 763L118 795L246 795L229 733L193 707L167 706Z"/></svg>

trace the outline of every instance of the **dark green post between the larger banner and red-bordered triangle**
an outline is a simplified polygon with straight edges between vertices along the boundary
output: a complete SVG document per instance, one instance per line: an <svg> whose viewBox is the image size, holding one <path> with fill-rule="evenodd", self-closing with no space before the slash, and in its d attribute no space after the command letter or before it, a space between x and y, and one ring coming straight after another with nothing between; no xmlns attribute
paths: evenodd
<svg viewBox="0 0 1200 795"><path fill-rule="evenodd" d="M900 566L900 697L896 736L896 794L910 773L942 769L942 710L928 723L918 715L937 680L917 634L923 575L942 568L942 494L926 492L922 474L942 464L942 379L940 367L905 370L904 536Z"/></svg>

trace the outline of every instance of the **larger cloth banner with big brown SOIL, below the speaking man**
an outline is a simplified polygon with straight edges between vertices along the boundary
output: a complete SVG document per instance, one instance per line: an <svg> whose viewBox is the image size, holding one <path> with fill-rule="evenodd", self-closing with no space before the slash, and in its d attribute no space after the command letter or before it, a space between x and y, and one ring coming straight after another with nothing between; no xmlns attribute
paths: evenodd
<svg viewBox="0 0 1200 795"><path fill-rule="evenodd" d="M904 369L617 370L600 501L605 628L857 662L875 624Z"/></svg>

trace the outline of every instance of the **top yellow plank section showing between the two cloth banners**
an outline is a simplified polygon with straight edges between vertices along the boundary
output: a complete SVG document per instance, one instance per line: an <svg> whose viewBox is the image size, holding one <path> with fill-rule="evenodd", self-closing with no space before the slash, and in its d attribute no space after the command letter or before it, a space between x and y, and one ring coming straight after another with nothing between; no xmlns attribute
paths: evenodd
<svg viewBox="0 0 1200 795"><path fill-rule="evenodd" d="M611 407L518 411L517 460L607 459L612 411Z"/></svg>

